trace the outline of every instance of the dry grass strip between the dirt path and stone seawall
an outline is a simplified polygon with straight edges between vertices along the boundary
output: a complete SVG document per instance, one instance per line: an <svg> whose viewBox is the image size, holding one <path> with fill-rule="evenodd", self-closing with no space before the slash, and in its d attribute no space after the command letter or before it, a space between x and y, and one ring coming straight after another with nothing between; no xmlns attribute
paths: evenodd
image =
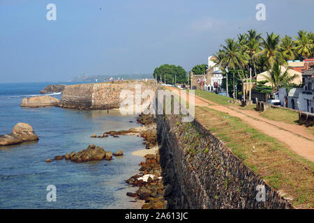
<svg viewBox="0 0 314 223"><path fill-rule="evenodd" d="M196 107L195 116L227 148L276 190L283 190L297 208L314 207L314 163L286 144L251 128L240 118L209 107Z"/></svg>

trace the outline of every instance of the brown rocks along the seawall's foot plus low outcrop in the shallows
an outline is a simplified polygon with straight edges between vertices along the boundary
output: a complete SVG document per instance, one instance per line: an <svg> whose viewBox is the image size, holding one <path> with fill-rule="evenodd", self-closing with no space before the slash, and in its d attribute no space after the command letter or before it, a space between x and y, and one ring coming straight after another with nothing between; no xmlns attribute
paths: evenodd
<svg viewBox="0 0 314 223"><path fill-rule="evenodd" d="M143 144L147 151L144 155L145 161L141 162L139 173L131 176L126 183L133 187L139 187L136 192L128 192L128 197L134 197L136 200L144 201L142 209L167 209L168 203L165 197L172 192L171 185L165 185L160 167L160 155L158 152L156 117L153 115L140 114L137 123L141 126L130 128L129 130L107 131L102 135L93 134L93 138L119 137L120 135L137 135L143 138ZM156 154L148 154L149 151ZM112 156L123 155L123 151L117 153L105 151L101 146L91 144L87 149L77 153L74 151L66 155L57 155L53 160L70 160L72 162L89 162L97 160L112 160ZM53 160L47 159L46 162Z"/></svg>

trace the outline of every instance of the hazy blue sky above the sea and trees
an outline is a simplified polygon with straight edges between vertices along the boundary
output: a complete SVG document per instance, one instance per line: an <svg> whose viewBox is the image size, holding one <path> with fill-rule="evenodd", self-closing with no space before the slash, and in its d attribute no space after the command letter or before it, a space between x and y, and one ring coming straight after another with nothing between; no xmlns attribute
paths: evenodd
<svg viewBox="0 0 314 223"><path fill-rule="evenodd" d="M46 20L48 3L57 21ZM266 21L255 19L257 3ZM313 0L0 0L0 82L152 73L163 63L188 71L251 28L313 31L313 8Z"/></svg>

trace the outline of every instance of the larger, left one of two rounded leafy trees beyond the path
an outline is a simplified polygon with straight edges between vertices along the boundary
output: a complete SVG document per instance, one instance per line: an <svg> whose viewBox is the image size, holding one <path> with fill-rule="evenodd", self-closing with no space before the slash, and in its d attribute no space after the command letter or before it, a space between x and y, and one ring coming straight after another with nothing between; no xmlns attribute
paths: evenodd
<svg viewBox="0 0 314 223"><path fill-rule="evenodd" d="M174 84L174 80L177 83L186 84L188 79L186 76L186 70L181 66L163 64L162 66L155 68L153 77L157 76L158 82L163 82L166 84Z"/></svg>

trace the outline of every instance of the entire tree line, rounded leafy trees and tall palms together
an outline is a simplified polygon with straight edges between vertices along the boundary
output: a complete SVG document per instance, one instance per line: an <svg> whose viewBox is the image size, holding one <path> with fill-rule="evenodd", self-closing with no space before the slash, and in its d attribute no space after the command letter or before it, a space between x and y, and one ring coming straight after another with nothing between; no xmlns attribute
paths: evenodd
<svg viewBox="0 0 314 223"><path fill-rule="evenodd" d="M262 33L257 33L255 29L250 29L247 33L240 33L237 38L227 38L224 45L220 45L218 52L213 56L213 61L217 64L223 74L232 75L224 79L227 91L233 93L233 87L228 86L228 79L233 79L234 84L248 79L250 72L253 76L257 73L270 70L269 77L265 77L270 82L273 89L285 86L294 76L289 76L287 72L281 73L281 66L287 67L287 61L312 58L314 56L314 33L300 30L294 38L291 36L266 33L265 38ZM207 64L200 64L193 67L195 75L202 75L207 70ZM227 72L228 71L228 72ZM237 76L237 77L236 77ZM181 66L164 64L154 70L154 79L158 82L174 84L174 82L188 83L188 73ZM233 82L233 80L231 82ZM231 83L233 84L233 83Z"/></svg>

